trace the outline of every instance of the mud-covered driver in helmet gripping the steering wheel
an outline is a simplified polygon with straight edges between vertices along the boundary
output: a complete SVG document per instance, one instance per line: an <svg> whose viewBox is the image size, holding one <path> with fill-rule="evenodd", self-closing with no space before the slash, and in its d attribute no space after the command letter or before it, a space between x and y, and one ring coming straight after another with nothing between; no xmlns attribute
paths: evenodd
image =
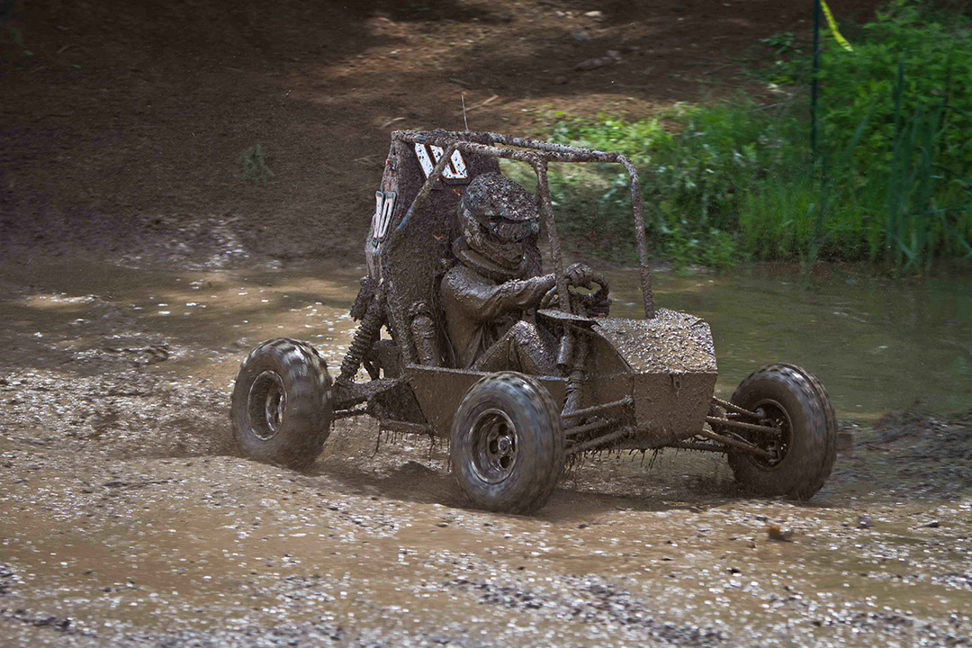
<svg viewBox="0 0 972 648"><path fill-rule="evenodd" d="M527 312L557 283L553 274L539 274L534 197L498 173L484 173L469 183L456 217L462 236L453 253L459 263L442 278L440 290L457 365L553 375L556 340ZM573 286L589 284L593 276L583 263L567 271Z"/></svg>

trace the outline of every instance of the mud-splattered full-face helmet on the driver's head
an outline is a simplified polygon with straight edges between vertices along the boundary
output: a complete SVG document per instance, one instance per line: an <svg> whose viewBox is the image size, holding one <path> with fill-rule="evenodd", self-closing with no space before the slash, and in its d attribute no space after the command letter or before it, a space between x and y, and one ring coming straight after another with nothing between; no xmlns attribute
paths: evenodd
<svg viewBox="0 0 972 648"><path fill-rule="evenodd" d="M523 262L527 245L539 231L534 196L499 173L476 176L456 216L469 248L508 268Z"/></svg>

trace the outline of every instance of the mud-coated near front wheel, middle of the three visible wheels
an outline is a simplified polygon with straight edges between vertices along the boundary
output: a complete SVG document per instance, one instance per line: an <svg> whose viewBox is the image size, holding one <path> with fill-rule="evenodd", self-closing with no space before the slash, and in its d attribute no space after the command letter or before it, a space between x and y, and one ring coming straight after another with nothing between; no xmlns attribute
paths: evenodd
<svg viewBox="0 0 972 648"><path fill-rule="evenodd" d="M532 513L564 470L559 409L542 385L514 371L469 388L449 440L452 473L477 508Z"/></svg>

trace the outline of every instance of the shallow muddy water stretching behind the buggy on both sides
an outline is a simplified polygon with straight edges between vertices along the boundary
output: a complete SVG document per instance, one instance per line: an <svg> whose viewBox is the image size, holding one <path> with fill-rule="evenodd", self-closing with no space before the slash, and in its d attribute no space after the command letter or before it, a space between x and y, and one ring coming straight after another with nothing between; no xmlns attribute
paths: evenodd
<svg viewBox="0 0 972 648"><path fill-rule="evenodd" d="M277 335L310 341L331 367L338 364L353 332L348 308L363 272L353 266L199 273L98 263L17 267L6 274L20 294L0 303L0 316L10 331L36 336L36 346L73 352L78 360L106 340L106 354L147 364L161 359L166 350L153 358L152 350L125 346L138 331L173 347L166 368L226 384L237 361L228 352ZM636 273L608 273L608 279L612 313L641 317ZM972 402L968 278L891 282L838 273L808 288L793 272L754 270L662 274L655 290L659 305L712 325L723 395L758 366L789 361L813 371L839 414L853 419L873 420L916 402L942 413ZM66 339L43 340L39 329L49 327Z"/></svg>

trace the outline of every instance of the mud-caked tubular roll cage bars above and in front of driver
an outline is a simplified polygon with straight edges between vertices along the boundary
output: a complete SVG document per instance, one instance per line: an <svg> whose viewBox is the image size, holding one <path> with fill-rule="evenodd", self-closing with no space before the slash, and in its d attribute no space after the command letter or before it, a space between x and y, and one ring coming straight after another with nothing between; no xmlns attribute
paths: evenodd
<svg viewBox="0 0 972 648"><path fill-rule="evenodd" d="M405 216L399 222L396 231L400 231L429 197L435 182L441 178L452 153L460 151L475 155L489 155L520 162L526 162L537 173L537 195L543 208L543 220L547 228L550 243L550 253L553 256L553 269L557 277L557 293L560 303L570 303L567 295L567 279L564 274L564 261L560 250L560 240L553 218L553 203L550 199L550 187L547 184L547 164L549 162L603 162L621 164L628 172L631 180L631 203L635 213L635 239L638 242L638 256L640 261L640 275L642 281L642 298L644 300L644 317L655 317L654 296L651 291L651 273L648 270L647 244L644 240L644 214L642 209L642 190L638 182L638 171L631 160L621 153L605 153L594 149L584 149L567 144L554 144L529 137L514 137L488 131L419 131L396 130L392 139L407 144L430 144L444 150L442 156L433 167L432 173L422 188L419 189L415 200L408 207ZM485 140L492 144L479 144L470 139ZM497 146L502 145L502 146Z"/></svg>

